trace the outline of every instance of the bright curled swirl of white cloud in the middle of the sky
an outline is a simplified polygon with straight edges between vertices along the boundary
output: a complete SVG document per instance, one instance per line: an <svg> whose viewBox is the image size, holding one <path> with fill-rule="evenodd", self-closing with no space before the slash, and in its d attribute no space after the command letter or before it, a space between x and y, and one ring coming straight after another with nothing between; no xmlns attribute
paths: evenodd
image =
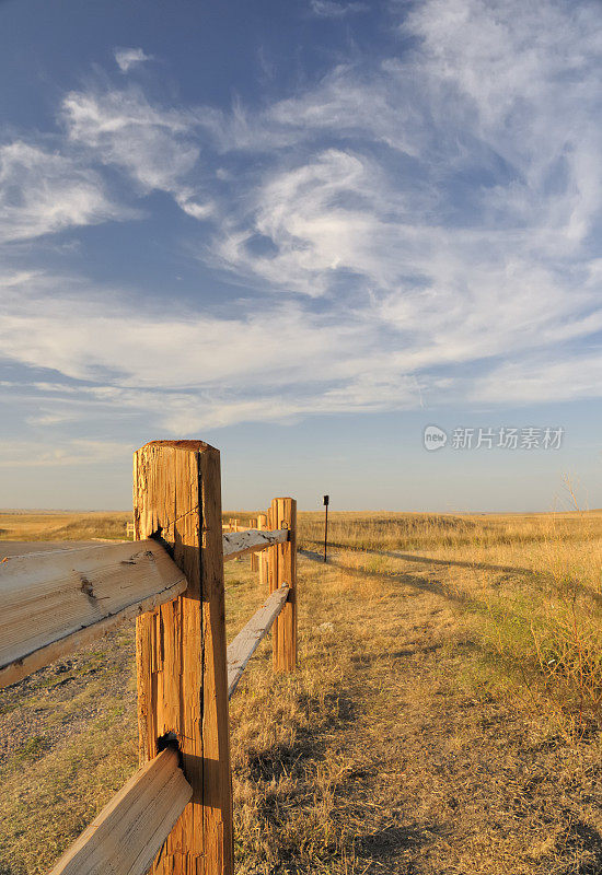
<svg viewBox="0 0 602 875"><path fill-rule="evenodd" d="M220 230L215 255L251 281L320 296L339 269L370 275L371 281L386 271L380 256L391 230L379 213L387 206L393 205L371 162L328 150L265 179L247 214Z"/></svg>

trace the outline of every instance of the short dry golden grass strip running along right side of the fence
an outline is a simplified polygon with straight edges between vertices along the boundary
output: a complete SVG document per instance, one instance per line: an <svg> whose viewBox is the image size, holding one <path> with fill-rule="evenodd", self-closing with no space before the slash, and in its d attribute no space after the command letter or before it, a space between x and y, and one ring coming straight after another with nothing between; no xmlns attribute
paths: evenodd
<svg viewBox="0 0 602 875"><path fill-rule="evenodd" d="M232 702L240 873L599 871L599 736L491 660L458 575L350 551L301 575L299 672L263 651Z"/></svg>

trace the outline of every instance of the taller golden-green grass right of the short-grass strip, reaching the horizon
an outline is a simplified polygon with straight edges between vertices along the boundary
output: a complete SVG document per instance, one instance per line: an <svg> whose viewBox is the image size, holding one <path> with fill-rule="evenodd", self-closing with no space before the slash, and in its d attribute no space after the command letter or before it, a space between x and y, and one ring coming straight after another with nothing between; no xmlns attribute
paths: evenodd
<svg viewBox="0 0 602 875"><path fill-rule="evenodd" d="M302 541L317 546L322 521L301 516ZM447 569L496 664L525 687L540 675L549 708L574 732L602 724L601 512L337 514L332 532L335 544L377 561L405 552L418 565Z"/></svg>

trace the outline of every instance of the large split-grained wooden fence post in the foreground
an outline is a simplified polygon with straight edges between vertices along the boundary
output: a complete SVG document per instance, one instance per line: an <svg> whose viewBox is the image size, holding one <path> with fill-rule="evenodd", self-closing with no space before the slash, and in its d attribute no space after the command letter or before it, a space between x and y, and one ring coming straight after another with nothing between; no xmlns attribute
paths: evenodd
<svg viewBox="0 0 602 875"><path fill-rule="evenodd" d="M173 734L193 797L157 875L232 875L232 793L219 452L154 441L134 457L136 538L158 537L188 588L137 620L140 762Z"/></svg>

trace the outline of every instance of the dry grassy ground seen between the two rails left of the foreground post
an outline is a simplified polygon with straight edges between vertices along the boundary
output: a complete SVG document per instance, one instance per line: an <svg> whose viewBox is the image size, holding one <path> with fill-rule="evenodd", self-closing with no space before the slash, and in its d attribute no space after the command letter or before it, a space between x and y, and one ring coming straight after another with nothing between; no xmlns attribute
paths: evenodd
<svg viewBox="0 0 602 875"><path fill-rule="evenodd" d="M0 873L47 872L136 769L134 628L0 695Z"/></svg>

